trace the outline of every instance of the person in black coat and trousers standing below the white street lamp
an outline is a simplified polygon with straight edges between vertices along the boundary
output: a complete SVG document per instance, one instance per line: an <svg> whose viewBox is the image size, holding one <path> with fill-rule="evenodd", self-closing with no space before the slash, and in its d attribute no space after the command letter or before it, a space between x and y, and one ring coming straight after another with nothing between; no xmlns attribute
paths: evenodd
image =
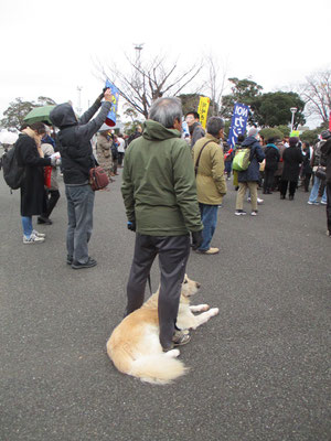
<svg viewBox="0 0 331 441"><path fill-rule="evenodd" d="M300 173L300 164L303 161L300 147L298 147L299 139L292 137L289 139L289 147L282 153L284 170L280 181L280 198L286 198L286 192L289 183L289 200L295 198L295 193L298 186L298 179Z"/></svg>

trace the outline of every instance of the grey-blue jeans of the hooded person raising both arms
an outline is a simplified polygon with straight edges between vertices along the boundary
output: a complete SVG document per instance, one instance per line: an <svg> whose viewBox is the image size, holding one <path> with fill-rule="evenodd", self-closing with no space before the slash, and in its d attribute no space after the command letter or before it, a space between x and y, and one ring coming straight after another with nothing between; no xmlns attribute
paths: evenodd
<svg viewBox="0 0 331 441"><path fill-rule="evenodd" d="M65 185L67 198L67 255L75 262L88 260L88 241L93 229L94 191L90 185Z"/></svg>

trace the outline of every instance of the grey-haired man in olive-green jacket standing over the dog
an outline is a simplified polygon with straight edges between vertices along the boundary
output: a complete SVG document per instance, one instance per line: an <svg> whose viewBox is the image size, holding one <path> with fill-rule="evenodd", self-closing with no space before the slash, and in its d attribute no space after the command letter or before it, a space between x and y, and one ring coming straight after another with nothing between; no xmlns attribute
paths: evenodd
<svg viewBox="0 0 331 441"><path fill-rule="evenodd" d="M191 151L181 139L181 101L156 100L142 137L126 151L121 185L128 228L137 232L126 315L142 305L147 278L159 255L159 324L164 351L190 338L175 332L175 321L190 254L190 232L193 248L202 241Z"/></svg>

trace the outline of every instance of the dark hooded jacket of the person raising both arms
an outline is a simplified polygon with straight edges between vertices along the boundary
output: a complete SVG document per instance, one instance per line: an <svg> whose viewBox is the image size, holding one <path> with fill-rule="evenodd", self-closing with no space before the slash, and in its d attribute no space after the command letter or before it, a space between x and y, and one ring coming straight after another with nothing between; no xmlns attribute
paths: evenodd
<svg viewBox="0 0 331 441"><path fill-rule="evenodd" d="M85 185L88 183L89 170L95 165L90 138L106 120L111 103L103 103L97 117L89 121L100 105L100 100L97 99L79 120L77 120L74 109L68 103L56 106L50 114L52 123L61 129L57 141L62 159L63 180L66 185Z"/></svg>

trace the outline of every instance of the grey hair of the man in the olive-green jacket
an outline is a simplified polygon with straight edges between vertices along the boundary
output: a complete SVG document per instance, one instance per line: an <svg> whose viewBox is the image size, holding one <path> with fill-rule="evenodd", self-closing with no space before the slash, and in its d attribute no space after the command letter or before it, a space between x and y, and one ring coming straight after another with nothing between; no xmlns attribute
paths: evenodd
<svg viewBox="0 0 331 441"><path fill-rule="evenodd" d="M175 119L182 120L182 103L179 98L159 98L149 109L148 118L160 122L167 129L173 127Z"/></svg>

